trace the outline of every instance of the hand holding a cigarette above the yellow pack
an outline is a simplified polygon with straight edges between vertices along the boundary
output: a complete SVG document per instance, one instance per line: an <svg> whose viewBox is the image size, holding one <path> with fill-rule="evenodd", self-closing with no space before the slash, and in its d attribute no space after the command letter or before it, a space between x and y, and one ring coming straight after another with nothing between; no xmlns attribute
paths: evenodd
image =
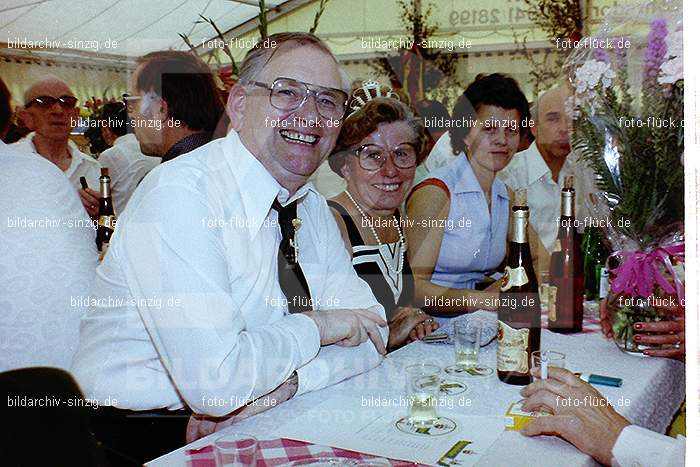
<svg viewBox="0 0 700 467"><path fill-rule="evenodd" d="M539 370L533 370L539 376ZM622 430L630 425L593 386L562 368L550 368L549 379L525 386L523 411L543 408L552 416L537 417L520 433L558 435L598 462L610 465Z"/></svg>

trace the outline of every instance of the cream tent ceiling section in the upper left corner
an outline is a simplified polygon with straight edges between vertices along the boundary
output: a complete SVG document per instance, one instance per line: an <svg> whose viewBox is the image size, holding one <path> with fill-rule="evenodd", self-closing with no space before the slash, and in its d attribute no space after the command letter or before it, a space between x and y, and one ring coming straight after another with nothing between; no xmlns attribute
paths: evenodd
<svg viewBox="0 0 700 467"><path fill-rule="evenodd" d="M3 0L0 37L48 41L57 49L138 57L167 48L186 49L178 33L197 46L215 35L203 15L228 31L258 14L252 0ZM268 8L286 3L267 0ZM107 41L114 48L107 47ZM21 46L23 48L26 46ZM41 48L46 48L43 44Z"/></svg>

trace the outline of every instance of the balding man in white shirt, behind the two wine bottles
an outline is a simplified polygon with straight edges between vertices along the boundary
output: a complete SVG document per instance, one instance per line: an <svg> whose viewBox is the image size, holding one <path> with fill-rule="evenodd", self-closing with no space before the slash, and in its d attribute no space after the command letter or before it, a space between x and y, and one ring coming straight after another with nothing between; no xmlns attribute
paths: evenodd
<svg viewBox="0 0 700 467"><path fill-rule="evenodd" d="M532 109L535 142L513 156L508 166L498 173L512 190L527 188L530 223L550 253L559 229L557 221L564 178L575 176L576 219L582 230L584 218L588 215L584 197L589 191L585 187L589 186L588 179L593 177L588 167L574 161L574 156L570 155L569 119L565 111L568 92L566 86L560 85L537 99Z"/></svg>

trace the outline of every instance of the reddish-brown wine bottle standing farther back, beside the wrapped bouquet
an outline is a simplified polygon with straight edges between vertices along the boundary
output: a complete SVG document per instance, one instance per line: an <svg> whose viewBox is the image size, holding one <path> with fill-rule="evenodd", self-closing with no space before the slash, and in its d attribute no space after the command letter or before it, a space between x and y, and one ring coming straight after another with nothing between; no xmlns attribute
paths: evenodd
<svg viewBox="0 0 700 467"><path fill-rule="evenodd" d="M583 329L583 257L576 232L574 177L564 179L561 190L559 233L549 263L550 331L581 332Z"/></svg>

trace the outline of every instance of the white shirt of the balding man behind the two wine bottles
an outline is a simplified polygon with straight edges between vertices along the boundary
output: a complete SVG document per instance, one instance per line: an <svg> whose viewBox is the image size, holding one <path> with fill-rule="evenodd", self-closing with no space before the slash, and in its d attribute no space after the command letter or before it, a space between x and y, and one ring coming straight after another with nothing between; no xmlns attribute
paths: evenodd
<svg viewBox="0 0 700 467"><path fill-rule="evenodd" d="M513 191L518 188L527 188L530 223L550 253L554 248L559 230L561 189L564 187L564 178L567 175L574 176L575 214L580 232L583 232L584 220L590 217L584 198L587 193L590 193L586 187L593 179L593 172L584 164L576 162L574 157L573 153L566 157L559 171L559 181L555 182L552 179L552 171L537 149L537 144L532 143L526 150L515 154L510 163L497 174L498 178Z"/></svg>

